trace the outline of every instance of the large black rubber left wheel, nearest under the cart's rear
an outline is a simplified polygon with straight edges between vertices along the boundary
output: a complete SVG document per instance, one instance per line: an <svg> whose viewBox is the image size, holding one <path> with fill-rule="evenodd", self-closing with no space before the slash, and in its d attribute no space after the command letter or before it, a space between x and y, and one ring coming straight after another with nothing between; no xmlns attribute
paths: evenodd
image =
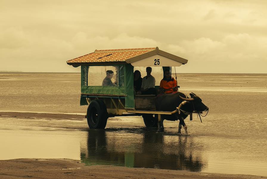
<svg viewBox="0 0 267 179"><path fill-rule="evenodd" d="M105 129L108 112L103 101L96 99L90 102L87 109L87 123L90 129Z"/></svg>

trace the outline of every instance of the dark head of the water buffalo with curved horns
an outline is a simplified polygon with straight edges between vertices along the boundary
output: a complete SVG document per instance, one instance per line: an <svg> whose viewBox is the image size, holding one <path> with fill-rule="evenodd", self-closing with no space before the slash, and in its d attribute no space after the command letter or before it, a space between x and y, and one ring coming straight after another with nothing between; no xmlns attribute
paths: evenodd
<svg viewBox="0 0 267 179"><path fill-rule="evenodd" d="M203 104L202 99L198 97L195 93L190 93L191 98L184 98L180 96L181 99L184 101L188 101L191 105L191 110L195 112L207 111L209 108ZM193 109L192 109L193 107Z"/></svg>

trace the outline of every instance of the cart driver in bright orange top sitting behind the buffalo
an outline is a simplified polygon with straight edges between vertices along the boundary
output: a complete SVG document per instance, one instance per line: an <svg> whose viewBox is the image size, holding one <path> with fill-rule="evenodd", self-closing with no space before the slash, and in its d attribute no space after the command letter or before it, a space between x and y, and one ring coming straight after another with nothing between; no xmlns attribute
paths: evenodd
<svg viewBox="0 0 267 179"><path fill-rule="evenodd" d="M164 71L164 78L160 81L159 91L165 94L177 93L177 81L170 75L169 70Z"/></svg>

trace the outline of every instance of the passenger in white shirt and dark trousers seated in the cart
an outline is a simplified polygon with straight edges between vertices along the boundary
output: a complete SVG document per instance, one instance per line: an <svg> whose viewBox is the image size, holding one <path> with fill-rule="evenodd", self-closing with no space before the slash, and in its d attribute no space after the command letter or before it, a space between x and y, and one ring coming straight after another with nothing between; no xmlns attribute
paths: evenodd
<svg viewBox="0 0 267 179"><path fill-rule="evenodd" d="M142 80L141 85L141 94L154 94L157 95L156 89L155 89L155 78L151 75L152 68L147 67L146 68L147 76L145 76ZM140 94L137 93L137 94Z"/></svg>

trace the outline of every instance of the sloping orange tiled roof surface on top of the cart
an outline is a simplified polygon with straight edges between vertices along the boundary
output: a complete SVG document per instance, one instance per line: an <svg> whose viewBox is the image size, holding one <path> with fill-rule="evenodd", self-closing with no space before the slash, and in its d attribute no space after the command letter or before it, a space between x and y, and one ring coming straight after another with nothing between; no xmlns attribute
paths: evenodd
<svg viewBox="0 0 267 179"><path fill-rule="evenodd" d="M110 49L95 50L93 53L83 55L67 61L68 64L73 63L101 63L101 62L125 62L127 59L136 57L141 54L158 49L154 48L136 48L136 49Z"/></svg>

